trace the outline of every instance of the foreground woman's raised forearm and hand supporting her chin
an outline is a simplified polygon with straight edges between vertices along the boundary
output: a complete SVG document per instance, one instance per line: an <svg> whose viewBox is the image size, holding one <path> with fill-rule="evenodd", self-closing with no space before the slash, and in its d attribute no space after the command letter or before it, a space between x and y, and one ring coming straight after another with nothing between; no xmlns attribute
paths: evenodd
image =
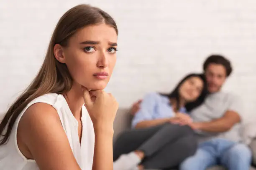
<svg viewBox="0 0 256 170"><path fill-rule="evenodd" d="M84 89L84 103L95 130L92 170L113 170L113 122L118 102L102 90Z"/></svg>

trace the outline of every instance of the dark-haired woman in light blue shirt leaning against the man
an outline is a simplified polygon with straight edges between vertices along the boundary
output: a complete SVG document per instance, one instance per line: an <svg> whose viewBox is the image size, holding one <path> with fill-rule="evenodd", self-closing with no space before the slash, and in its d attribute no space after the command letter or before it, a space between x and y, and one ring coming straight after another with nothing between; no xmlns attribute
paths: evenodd
<svg viewBox="0 0 256 170"><path fill-rule="evenodd" d="M114 170L175 168L197 149L187 108L200 105L207 93L205 77L189 74L169 94L149 93L133 117L133 130L119 135L113 148Z"/></svg>

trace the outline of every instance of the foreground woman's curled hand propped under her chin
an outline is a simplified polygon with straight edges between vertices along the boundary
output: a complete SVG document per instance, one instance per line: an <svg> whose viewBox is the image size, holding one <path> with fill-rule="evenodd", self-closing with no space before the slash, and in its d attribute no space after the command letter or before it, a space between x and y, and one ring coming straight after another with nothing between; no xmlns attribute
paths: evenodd
<svg viewBox="0 0 256 170"><path fill-rule="evenodd" d="M112 128L118 110L118 102L110 93L103 90L82 88L84 92L84 105L92 119L94 128ZM99 127L100 126L100 127Z"/></svg>

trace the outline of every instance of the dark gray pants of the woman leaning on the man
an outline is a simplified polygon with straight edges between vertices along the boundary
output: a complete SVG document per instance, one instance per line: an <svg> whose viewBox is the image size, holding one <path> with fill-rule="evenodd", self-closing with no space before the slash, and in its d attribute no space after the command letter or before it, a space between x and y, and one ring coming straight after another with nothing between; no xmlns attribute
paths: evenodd
<svg viewBox="0 0 256 170"><path fill-rule="evenodd" d="M197 140L189 126L171 123L151 128L129 130L118 136L113 147L114 161L125 153L141 150L144 168L175 168L194 155Z"/></svg>

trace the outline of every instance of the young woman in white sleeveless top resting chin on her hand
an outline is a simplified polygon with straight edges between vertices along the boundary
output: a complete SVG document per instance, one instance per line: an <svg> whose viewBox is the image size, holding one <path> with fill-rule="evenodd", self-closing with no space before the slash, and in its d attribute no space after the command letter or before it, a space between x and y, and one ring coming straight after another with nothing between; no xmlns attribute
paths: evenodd
<svg viewBox="0 0 256 170"><path fill-rule="evenodd" d="M0 124L1 170L113 170L118 103L103 89L117 34L96 7L78 5L61 17L38 75Z"/></svg>

